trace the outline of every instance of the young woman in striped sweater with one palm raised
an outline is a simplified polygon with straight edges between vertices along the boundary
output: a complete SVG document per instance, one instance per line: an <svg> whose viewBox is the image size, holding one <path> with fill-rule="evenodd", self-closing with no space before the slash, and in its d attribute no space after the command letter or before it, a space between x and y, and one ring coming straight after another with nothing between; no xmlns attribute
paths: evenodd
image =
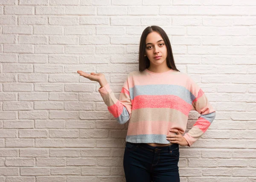
<svg viewBox="0 0 256 182"><path fill-rule="evenodd" d="M123 158L126 182L180 182L179 145L198 140L215 110L191 77L177 70L166 32L159 26L145 28L139 71L127 75L119 100L104 74L77 72L99 82L98 91L120 124L129 121ZM184 134L191 110L201 117Z"/></svg>

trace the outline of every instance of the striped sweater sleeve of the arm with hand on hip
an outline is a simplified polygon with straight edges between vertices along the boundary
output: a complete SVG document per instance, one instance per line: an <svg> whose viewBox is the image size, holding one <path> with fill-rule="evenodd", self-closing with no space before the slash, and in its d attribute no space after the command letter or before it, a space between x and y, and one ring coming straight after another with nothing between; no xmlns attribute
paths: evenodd
<svg viewBox="0 0 256 182"><path fill-rule="evenodd" d="M190 147L209 128L216 116L216 112L208 101L204 91L190 77L189 85L192 107L201 114L201 117L197 119L192 128L183 136Z"/></svg>

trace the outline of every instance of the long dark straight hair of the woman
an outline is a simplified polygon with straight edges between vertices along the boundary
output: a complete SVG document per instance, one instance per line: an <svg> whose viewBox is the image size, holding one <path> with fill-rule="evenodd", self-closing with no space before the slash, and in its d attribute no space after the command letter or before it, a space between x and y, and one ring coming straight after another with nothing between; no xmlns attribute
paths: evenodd
<svg viewBox="0 0 256 182"><path fill-rule="evenodd" d="M144 56L146 54L146 38L149 33L151 32L157 32L161 35L163 38L163 41L167 48L167 57L166 57L166 63L169 68L172 68L176 71L179 71L174 62L173 54L172 54L172 47L170 40L166 34L166 32L159 26L148 26L145 28L145 30L142 32L142 35L140 37L140 49L139 49L139 71L144 71L146 68L149 67L150 61L147 56Z"/></svg>

